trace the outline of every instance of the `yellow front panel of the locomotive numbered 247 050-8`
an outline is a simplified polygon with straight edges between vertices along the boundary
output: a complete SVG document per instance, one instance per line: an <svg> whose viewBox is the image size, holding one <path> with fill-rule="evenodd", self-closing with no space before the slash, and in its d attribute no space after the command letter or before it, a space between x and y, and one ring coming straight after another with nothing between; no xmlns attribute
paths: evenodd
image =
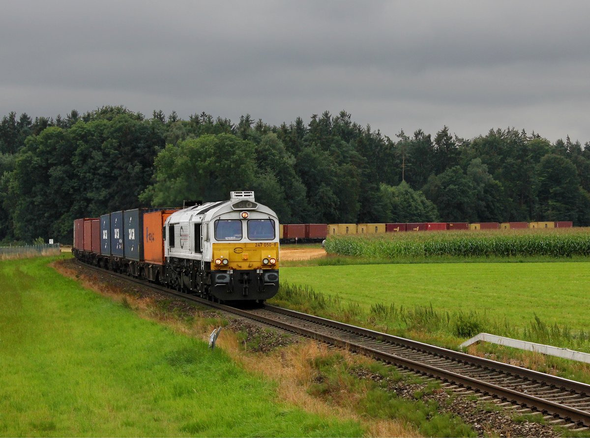
<svg viewBox="0 0 590 438"><path fill-rule="evenodd" d="M278 242L214 243L212 270L278 269ZM263 264L263 259L276 259L275 264ZM228 264L215 264L215 259L227 259Z"/></svg>

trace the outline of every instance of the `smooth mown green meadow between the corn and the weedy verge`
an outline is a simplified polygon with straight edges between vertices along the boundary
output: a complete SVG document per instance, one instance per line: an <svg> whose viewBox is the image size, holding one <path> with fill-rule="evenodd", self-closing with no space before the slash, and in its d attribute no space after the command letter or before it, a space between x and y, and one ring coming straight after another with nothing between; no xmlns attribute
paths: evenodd
<svg viewBox="0 0 590 438"><path fill-rule="evenodd" d="M523 326L590 327L590 263L434 263L281 268L281 283L309 285L362 308L394 303L480 312Z"/></svg>

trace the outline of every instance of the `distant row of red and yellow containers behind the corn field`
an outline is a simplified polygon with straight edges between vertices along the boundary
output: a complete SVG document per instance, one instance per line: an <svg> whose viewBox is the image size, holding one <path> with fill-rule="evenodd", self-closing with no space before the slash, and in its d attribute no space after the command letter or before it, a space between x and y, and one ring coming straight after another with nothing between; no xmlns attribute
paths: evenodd
<svg viewBox="0 0 590 438"><path fill-rule="evenodd" d="M571 221L557 222L421 222L394 224L281 224L280 239L283 242L322 241L327 236L347 234L381 234L406 231L453 230L515 230L519 228L571 228Z"/></svg>

